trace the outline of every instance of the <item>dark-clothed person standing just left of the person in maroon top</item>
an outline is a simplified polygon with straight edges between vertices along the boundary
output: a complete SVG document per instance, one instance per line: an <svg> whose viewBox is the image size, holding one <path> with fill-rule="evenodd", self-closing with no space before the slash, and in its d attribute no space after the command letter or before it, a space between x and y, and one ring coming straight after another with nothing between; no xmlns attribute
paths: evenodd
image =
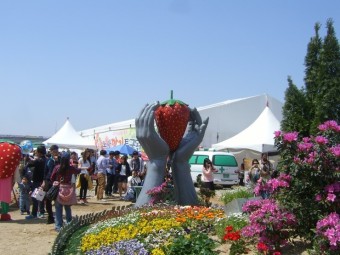
<svg viewBox="0 0 340 255"><path fill-rule="evenodd" d="M59 147L56 144L53 144L50 147L50 154L51 157L47 159L46 167L44 171L44 181L41 187L44 189L44 191L48 191L52 187L51 182L51 175L53 172L53 169L56 165L60 163L60 156L59 156ZM53 210L52 210L52 201L49 199L44 199L46 204L46 211L48 214L47 218L47 224L53 224L54 223L54 217L53 217Z"/></svg>

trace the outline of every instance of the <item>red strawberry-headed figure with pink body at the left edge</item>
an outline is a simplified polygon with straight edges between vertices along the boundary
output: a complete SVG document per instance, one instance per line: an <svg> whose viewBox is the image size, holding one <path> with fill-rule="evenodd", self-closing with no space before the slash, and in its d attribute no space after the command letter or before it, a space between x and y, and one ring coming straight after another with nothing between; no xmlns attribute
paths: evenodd
<svg viewBox="0 0 340 255"><path fill-rule="evenodd" d="M0 220L10 220L8 214L11 202L12 176L17 169L21 158L21 149L12 143L0 143Z"/></svg>

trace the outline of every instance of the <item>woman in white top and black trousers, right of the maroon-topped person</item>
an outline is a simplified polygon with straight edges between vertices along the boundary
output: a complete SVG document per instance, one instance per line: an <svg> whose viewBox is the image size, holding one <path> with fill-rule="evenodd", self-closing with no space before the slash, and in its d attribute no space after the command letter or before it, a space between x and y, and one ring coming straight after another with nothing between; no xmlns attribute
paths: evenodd
<svg viewBox="0 0 340 255"><path fill-rule="evenodd" d="M80 191L79 191L79 203L87 203L87 190L88 181L90 177L89 170L92 168L90 160L90 151L86 149L82 154L82 157L78 161L78 168L80 169L79 181L80 181ZM92 181L92 180L91 180Z"/></svg>

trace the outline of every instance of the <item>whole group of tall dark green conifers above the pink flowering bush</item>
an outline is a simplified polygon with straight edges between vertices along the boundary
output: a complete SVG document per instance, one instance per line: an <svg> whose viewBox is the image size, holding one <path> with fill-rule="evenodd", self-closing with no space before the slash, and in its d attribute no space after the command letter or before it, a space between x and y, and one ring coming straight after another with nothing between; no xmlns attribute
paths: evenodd
<svg viewBox="0 0 340 255"><path fill-rule="evenodd" d="M332 19L327 20L326 27L327 34L322 39L320 23L314 26L315 35L308 43L305 57L305 86L299 90L288 77L283 131L315 134L320 123L340 121L340 46Z"/></svg>

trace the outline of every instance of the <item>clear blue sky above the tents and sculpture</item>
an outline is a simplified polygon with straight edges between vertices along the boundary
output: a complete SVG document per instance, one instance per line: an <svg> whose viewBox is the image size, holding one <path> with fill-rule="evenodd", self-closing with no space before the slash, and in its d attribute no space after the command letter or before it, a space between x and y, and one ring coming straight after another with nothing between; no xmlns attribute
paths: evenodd
<svg viewBox="0 0 340 255"><path fill-rule="evenodd" d="M135 118L146 103L191 107L301 87L307 44L340 1L2 0L0 134L53 135ZM240 116L241 117L241 116ZM237 121L237 120L236 120Z"/></svg>

